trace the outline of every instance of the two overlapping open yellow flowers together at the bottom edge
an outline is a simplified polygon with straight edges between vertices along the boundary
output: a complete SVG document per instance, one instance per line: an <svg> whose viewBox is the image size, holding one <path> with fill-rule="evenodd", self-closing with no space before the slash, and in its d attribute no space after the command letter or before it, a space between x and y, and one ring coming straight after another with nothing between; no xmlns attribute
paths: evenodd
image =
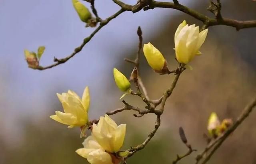
<svg viewBox="0 0 256 164"><path fill-rule="evenodd" d="M87 137L84 148L76 150L80 156L87 158L91 164L113 164L118 161L114 156L124 142L126 124L117 124L108 116L100 117L98 125L93 124L92 135Z"/></svg>

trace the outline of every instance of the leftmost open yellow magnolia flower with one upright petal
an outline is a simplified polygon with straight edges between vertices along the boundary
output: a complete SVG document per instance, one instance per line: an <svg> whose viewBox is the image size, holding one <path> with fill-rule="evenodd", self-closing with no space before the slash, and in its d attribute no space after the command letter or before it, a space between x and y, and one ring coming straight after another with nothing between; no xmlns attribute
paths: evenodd
<svg viewBox="0 0 256 164"><path fill-rule="evenodd" d="M57 96L62 104L64 113L55 111L56 115L50 116L51 119L69 125L68 128L84 126L88 123L88 110L90 105L88 87L84 89L82 99L71 90L61 95L57 93Z"/></svg>

